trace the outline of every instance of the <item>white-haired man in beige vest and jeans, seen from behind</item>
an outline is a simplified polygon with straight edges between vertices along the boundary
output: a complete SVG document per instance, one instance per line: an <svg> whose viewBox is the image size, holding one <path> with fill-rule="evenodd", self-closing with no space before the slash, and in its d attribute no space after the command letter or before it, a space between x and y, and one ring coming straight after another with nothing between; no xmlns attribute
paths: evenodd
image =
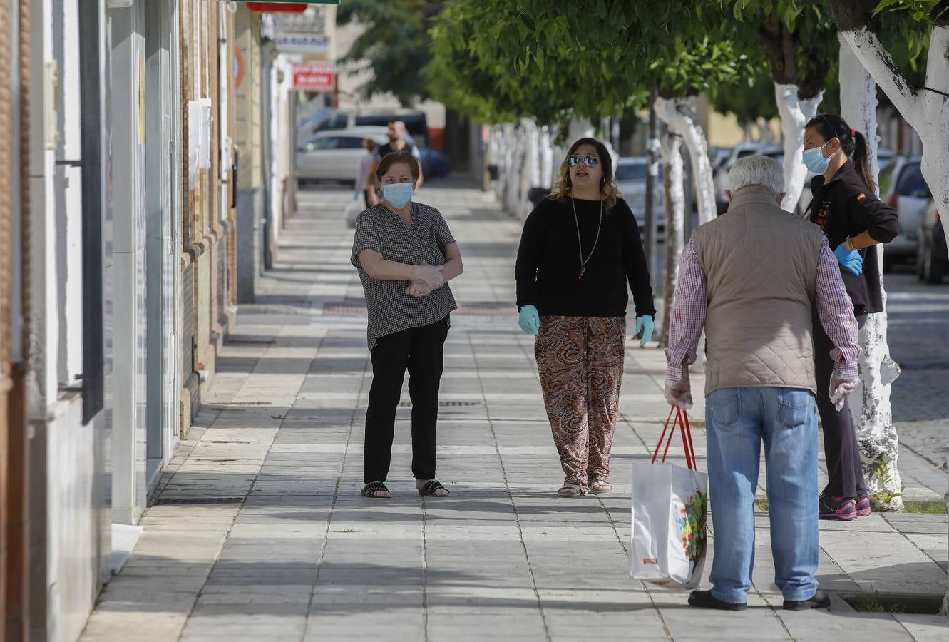
<svg viewBox="0 0 949 642"><path fill-rule="evenodd" d="M817 590L817 419L814 395L843 404L857 377L857 321L827 237L781 209L777 161L753 156L729 173L728 212L698 227L682 253L666 349L665 396L689 408L689 365L706 335L705 427L715 520L711 591L689 604L747 608L754 565L754 491L762 442L774 581L784 608L827 608ZM811 309L834 344L829 390L814 382Z"/></svg>

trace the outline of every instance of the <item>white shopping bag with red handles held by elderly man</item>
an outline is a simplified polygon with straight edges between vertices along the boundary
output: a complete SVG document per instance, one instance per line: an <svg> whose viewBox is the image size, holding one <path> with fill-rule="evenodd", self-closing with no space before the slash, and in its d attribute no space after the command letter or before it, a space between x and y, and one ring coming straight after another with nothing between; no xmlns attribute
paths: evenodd
<svg viewBox="0 0 949 642"><path fill-rule="evenodd" d="M695 468L687 416L677 415L669 441L678 423L689 467L664 463L664 454L660 463L633 464L629 576L672 588L696 589L708 541L708 476ZM665 432L663 429L653 462Z"/></svg>

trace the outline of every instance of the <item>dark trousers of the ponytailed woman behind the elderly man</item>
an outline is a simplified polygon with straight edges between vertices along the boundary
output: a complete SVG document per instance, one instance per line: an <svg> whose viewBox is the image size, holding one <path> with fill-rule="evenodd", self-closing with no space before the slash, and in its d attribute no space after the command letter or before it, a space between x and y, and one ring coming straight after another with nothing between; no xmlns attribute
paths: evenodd
<svg viewBox="0 0 949 642"><path fill-rule="evenodd" d="M866 315L857 317L857 325L864 327ZM857 430L850 415L849 402L840 410L830 403L830 375L833 361L830 350L833 342L824 331L820 319L814 315L814 377L817 380L817 414L824 428L824 454L828 464L828 485L824 495L828 497L855 498L866 492L864 468L860 462L860 446Z"/></svg>

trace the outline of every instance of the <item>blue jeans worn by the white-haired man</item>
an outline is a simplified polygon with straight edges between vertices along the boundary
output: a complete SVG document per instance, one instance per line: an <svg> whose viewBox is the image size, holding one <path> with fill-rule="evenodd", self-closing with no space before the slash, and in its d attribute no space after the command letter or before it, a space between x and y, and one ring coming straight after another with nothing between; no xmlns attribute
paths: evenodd
<svg viewBox="0 0 949 642"><path fill-rule="evenodd" d="M768 466L774 583L786 600L817 590L817 417L814 395L789 387L718 388L705 400L715 541L712 595L747 600L754 568L754 491Z"/></svg>

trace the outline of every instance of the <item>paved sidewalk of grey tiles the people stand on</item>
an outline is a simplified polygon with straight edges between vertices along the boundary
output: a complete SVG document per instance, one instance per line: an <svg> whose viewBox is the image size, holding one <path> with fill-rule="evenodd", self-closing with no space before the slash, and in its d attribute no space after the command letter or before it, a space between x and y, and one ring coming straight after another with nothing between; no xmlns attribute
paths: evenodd
<svg viewBox="0 0 949 642"><path fill-rule="evenodd" d="M840 597L940 596L944 515L822 522L829 614L780 609L764 513L747 612L691 609L685 593L630 580L630 464L650 456L667 413L662 352L627 347L617 492L557 497L563 474L532 342L512 314L520 225L458 181L427 182L421 195L448 218L466 267L452 284L463 309L446 345L439 423L438 477L452 497L417 496L403 407L396 497L361 498L371 369L342 221L349 194L301 192L266 293L241 308L212 395L84 640L949 638L949 618L856 614ZM703 467L701 429L696 448ZM939 497L944 474L907 466L907 495Z"/></svg>

